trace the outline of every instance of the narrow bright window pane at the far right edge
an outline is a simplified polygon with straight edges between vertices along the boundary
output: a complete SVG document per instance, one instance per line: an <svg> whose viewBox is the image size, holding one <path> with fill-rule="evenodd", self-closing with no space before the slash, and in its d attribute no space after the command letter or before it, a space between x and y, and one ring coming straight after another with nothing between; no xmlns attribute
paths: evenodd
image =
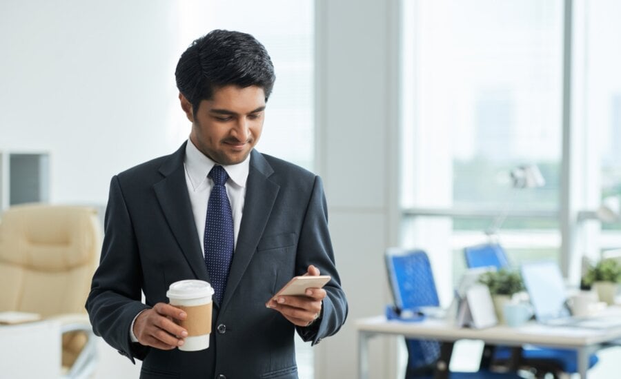
<svg viewBox="0 0 621 379"><path fill-rule="evenodd" d="M621 51L615 45L621 35L621 25L611 14L621 12L621 3L613 0L585 1L584 14L584 69L576 74L577 80L584 81L585 96L579 105L584 112L586 133L587 180L593 183L588 192L593 207L598 207L604 199L621 195ZM592 232L592 231L591 231ZM592 240L596 250L618 249L621 247L621 223L602 223L595 228ZM598 253L598 251L595 251Z"/></svg>

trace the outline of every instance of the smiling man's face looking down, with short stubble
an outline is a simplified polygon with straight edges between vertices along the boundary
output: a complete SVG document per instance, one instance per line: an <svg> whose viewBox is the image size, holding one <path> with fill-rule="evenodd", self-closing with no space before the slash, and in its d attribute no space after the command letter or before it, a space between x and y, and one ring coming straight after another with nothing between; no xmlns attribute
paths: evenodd
<svg viewBox="0 0 621 379"><path fill-rule="evenodd" d="M213 161L240 163L259 141L265 119L263 88L227 85L215 90L211 100L201 101L196 112L183 95L179 100L192 121L190 141Z"/></svg>

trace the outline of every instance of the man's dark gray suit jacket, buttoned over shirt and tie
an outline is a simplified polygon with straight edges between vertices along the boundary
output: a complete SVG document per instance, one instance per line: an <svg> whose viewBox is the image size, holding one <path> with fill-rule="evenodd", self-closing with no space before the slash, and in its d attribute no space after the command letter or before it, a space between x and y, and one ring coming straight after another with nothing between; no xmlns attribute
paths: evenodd
<svg viewBox="0 0 621 379"><path fill-rule="evenodd" d="M296 327L266 301L308 265L332 276L322 318L297 327L313 345L339 330L347 303L321 179L256 150L226 293L214 304L209 349L162 351L130 342L132 320L142 309L168 303L170 283L210 281L186 186L185 148L112 178L101 261L86 302L93 330L132 361L144 360L141 378L297 378Z"/></svg>

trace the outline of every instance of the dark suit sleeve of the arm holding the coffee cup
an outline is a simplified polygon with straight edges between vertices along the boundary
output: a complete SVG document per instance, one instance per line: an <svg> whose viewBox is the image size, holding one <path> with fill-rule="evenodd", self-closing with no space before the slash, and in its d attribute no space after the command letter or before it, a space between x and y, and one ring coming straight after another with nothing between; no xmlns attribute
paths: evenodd
<svg viewBox="0 0 621 379"><path fill-rule="evenodd" d="M141 265L132 220L119 178L110 183L105 234L99 267L92 278L86 309L92 329L120 354L144 359L148 348L130 342L135 316L148 307L141 303Z"/></svg>

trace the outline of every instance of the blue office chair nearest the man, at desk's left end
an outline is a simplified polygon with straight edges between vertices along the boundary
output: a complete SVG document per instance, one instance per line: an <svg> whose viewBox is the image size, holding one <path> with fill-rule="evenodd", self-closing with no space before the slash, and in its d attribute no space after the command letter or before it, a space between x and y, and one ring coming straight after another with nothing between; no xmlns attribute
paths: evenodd
<svg viewBox="0 0 621 379"><path fill-rule="evenodd" d="M437 298L435 281L431 272L431 264L427 254L422 250L388 249L386 251L386 268L388 279L391 283L393 298L397 309L417 309L419 307L437 307L440 302ZM435 340L415 340L406 338L408 349L408 365L406 379L432 378L436 367L446 367L449 362L438 365L439 360L450 358L441 356L442 347ZM446 373L446 372L445 372ZM448 375L448 373L446 373ZM449 377L449 376L447 376ZM450 378L521 378L515 372L495 373L482 368L480 371L471 373L450 373Z"/></svg>

